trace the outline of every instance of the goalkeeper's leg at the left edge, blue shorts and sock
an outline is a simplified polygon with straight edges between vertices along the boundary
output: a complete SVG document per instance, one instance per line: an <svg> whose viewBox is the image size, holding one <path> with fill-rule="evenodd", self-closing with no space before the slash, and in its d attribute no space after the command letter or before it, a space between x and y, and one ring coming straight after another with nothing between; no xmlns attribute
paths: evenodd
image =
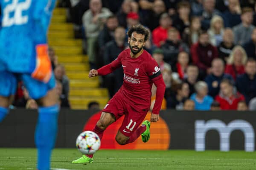
<svg viewBox="0 0 256 170"><path fill-rule="evenodd" d="M9 105L12 102L12 96L17 88L17 80L14 74L8 71L0 71L0 122L9 113Z"/></svg>

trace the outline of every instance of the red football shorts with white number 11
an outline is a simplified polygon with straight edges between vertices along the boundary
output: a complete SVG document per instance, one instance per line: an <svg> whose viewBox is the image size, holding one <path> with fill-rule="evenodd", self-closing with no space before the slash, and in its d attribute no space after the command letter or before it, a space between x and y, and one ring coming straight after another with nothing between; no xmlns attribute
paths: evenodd
<svg viewBox="0 0 256 170"><path fill-rule="evenodd" d="M139 127L148 113L146 109L129 105L127 99L125 100L125 96L123 96L120 91L113 96L102 111L112 113L116 120L125 115L125 119L119 131L128 137Z"/></svg>

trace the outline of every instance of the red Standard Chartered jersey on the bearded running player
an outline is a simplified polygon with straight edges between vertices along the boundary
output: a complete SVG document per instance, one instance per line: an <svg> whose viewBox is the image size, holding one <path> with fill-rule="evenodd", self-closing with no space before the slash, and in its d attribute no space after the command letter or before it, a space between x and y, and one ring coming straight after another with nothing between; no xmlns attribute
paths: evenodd
<svg viewBox="0 0 256 170"><path fill-rule="evenodd" d="M149 109L152 79L162 78L160 68L147 51L144 50L137 58L131 58L130 52L129 48L122 51L110 64L112 71L119 67L124 70L123 85L117 93L121 93L130 105L134 105L136 108ZM100 69L98 72L99 75L108 74L102 73Z"/></svg>

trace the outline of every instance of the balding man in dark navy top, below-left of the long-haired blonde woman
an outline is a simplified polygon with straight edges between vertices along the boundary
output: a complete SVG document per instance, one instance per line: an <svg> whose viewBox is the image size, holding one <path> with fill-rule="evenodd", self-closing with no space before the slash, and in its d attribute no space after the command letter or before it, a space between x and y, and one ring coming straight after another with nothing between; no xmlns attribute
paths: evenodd
<svg viewBox="0 0 256 170"><path fill-rule="evenodd" d="M220 82L222 79L230 79L233 81L233 78L229 74L224 74L224 61L220 58L215 58L212 60L212 73L205 78L207 82L209 95L215 98L220 91Z"/></svg>

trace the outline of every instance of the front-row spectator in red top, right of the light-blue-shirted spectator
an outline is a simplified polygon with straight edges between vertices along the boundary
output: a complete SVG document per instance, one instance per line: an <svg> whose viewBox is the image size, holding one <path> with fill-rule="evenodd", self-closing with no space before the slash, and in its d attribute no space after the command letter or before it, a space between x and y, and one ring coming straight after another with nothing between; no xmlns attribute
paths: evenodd
<svg viewBox="0 0 256 170"><path fill-rule="evenodd" d="M223 79L220 87L220 94L215 100L220 103L221 110L237 110L238 103L245 100L244 96L234 90L229 79Z"/></svg>

